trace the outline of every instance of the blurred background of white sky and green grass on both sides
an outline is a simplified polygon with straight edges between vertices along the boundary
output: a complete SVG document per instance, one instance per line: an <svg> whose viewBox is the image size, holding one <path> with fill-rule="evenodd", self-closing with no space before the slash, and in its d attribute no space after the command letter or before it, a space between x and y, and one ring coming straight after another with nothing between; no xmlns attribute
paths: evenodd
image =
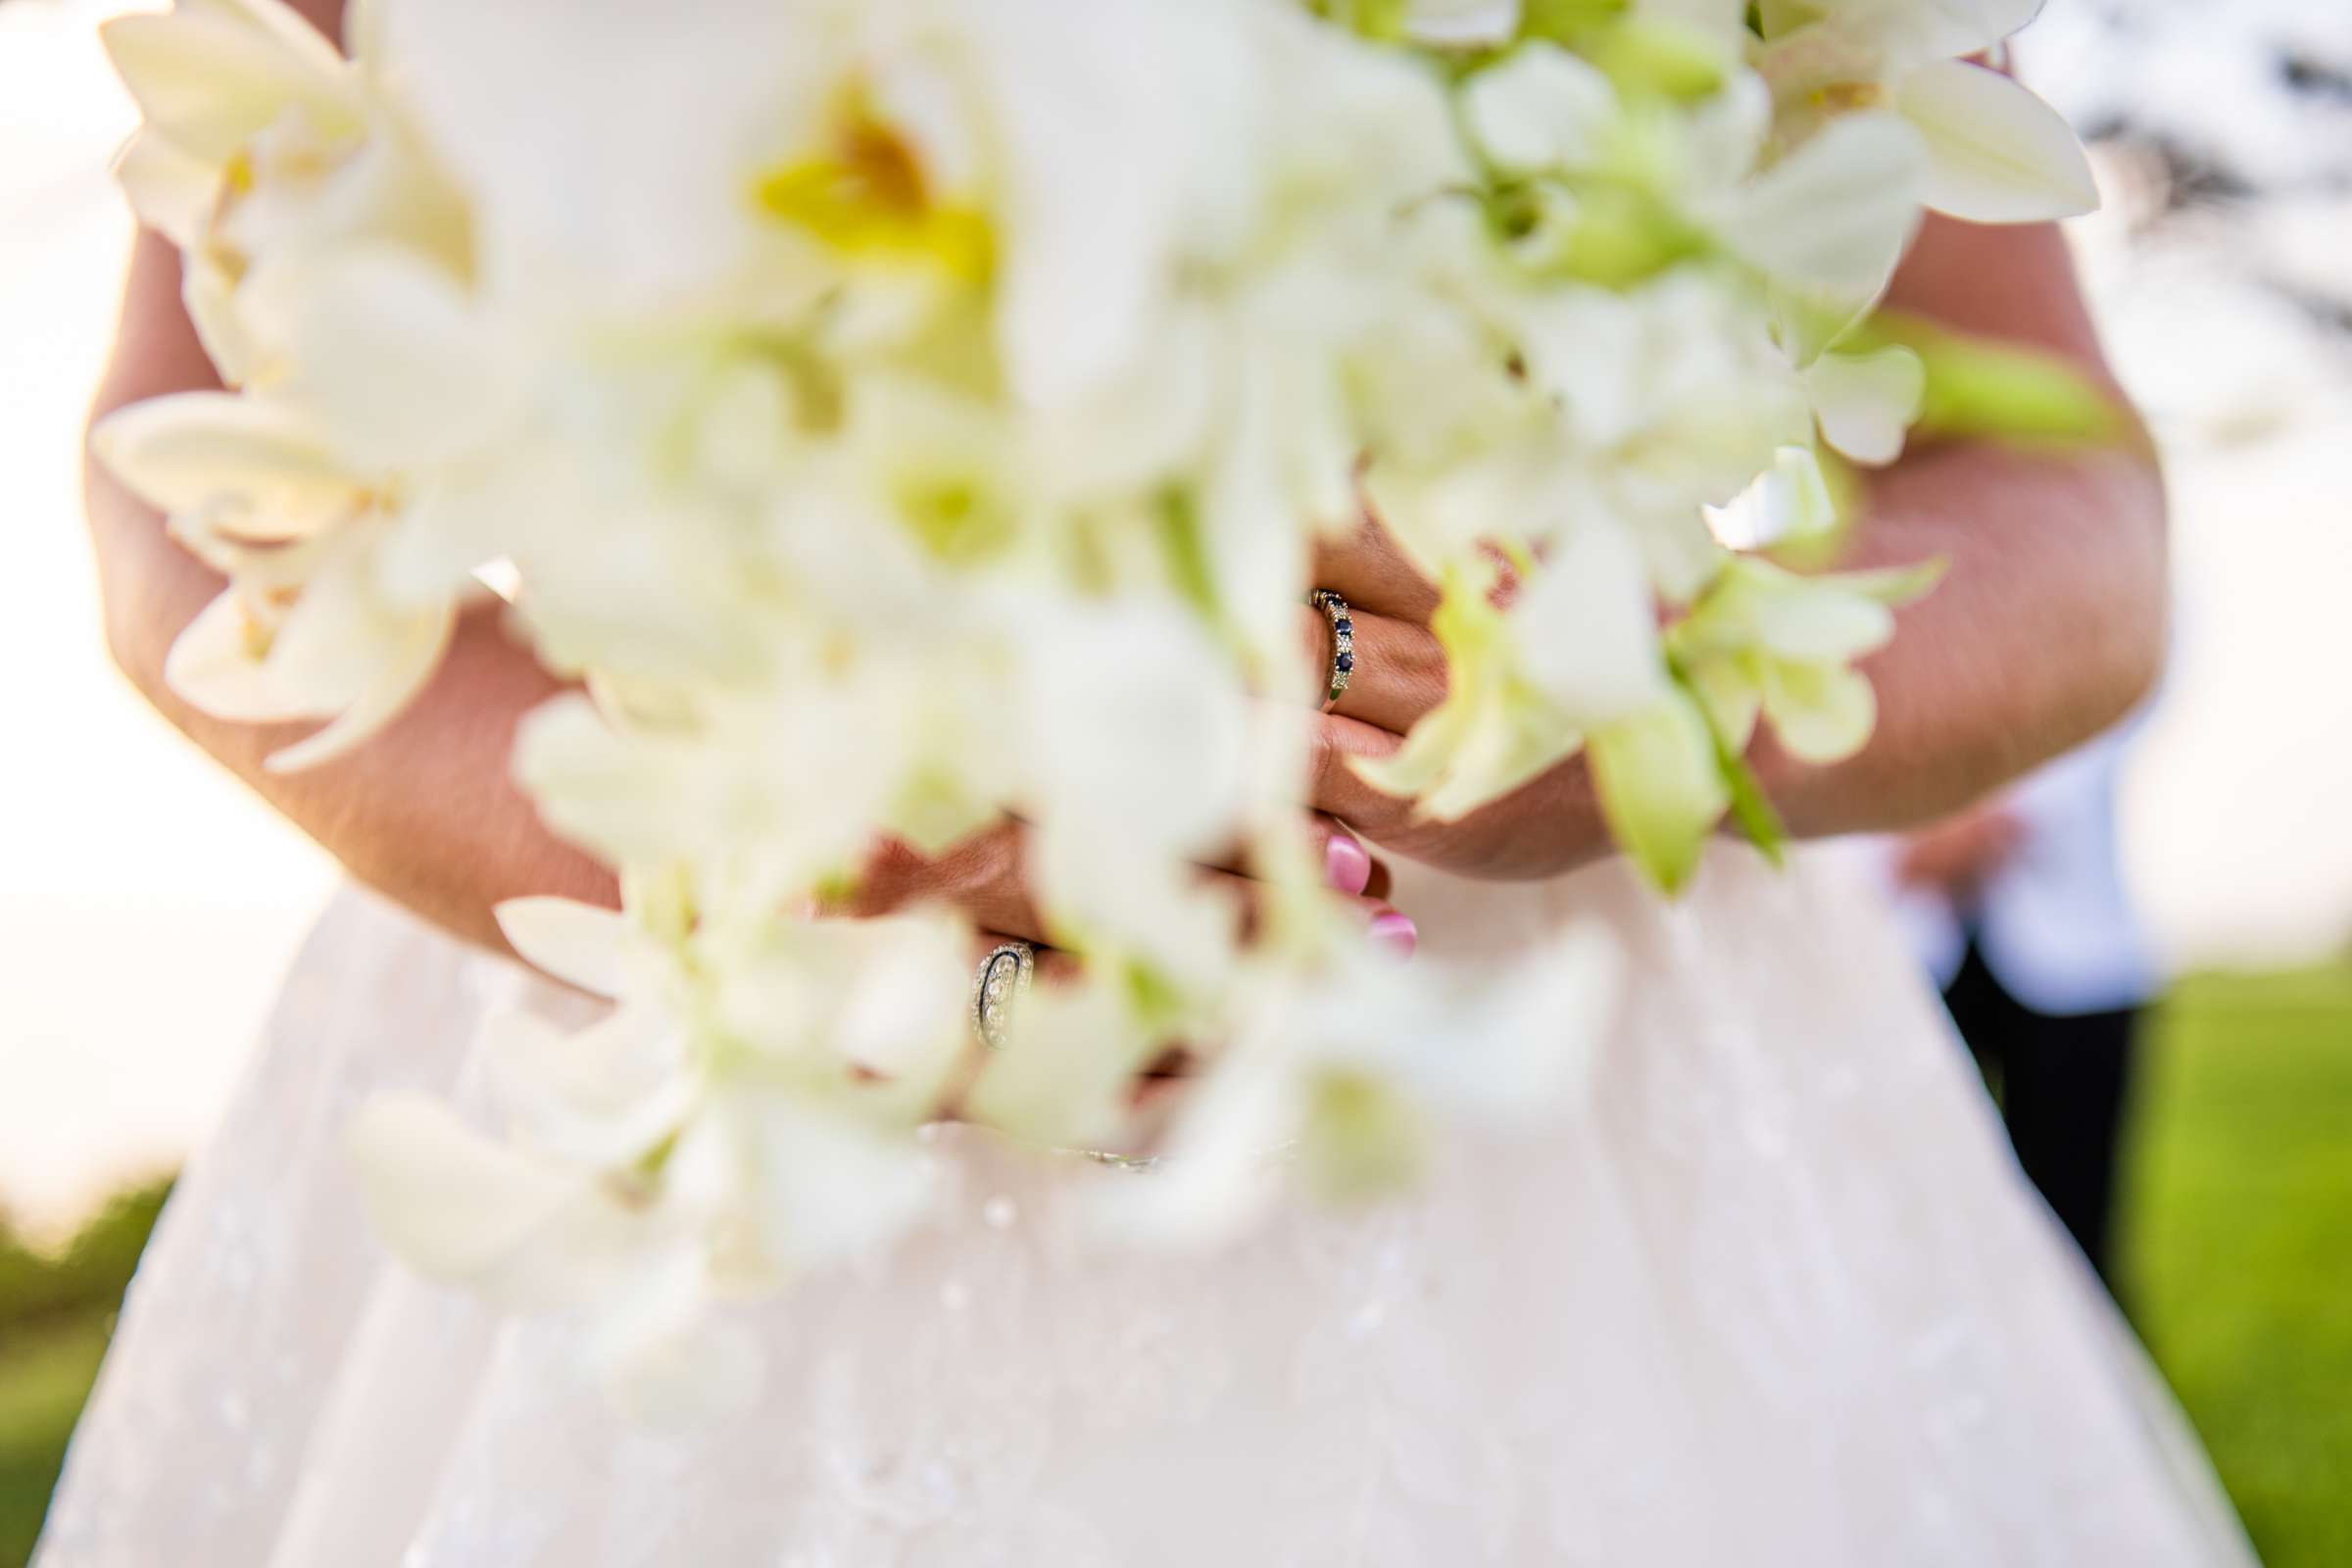
<svg viewBox="0 0 2352 1568"><path fill-rule="evenodd" d="M176 1161L334 867L115 677L80 423L129 242L118 5L0 0L0 1566ZM2352 1563L2352 5L2051 0L2093 306L2166 451L2185 628L2129 755L2166 976L2114 1279L2274 1568Z"/></svg>

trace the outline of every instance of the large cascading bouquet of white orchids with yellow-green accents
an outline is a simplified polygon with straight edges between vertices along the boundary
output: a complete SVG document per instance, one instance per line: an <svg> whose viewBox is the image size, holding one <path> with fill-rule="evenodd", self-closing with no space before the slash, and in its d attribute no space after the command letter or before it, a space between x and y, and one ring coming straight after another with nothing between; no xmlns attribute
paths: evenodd
<svg viewBox="0 0 2352 1568"><path fill-rule="evenodd" d="M365 743L506 599L574 693L515 769L623 910L522 900L612 999L501 1018L499 1138L426 1100L358 1145L390 1241L586 1307L616 1387L717 1387L708 1302L887 1241L967 1072L976 933L823 919L877 839L1016 816L1056 947L964 1095L1117 1147L1214 1044L1134 1234L1204 1234L1263 1152L1352 1194L1442 1112L1573 1072L1604 938L1381 961L1296 799L1317 534L1442 585L1449 693L1381 790L1461 818L1583 752L1679 886L1757 724L1872 726L1917 576L1724 538L1837 524L1929 367L1867 329L1924 207L2086 207L2065 125L1966 56L2034 0L275 0L108 26L120 162L228 390L103 461L228 578L195 705ZM1733 524L1733 527L1724 527ZM1498 574L1515 576L1508 607ZM1268 701L1275 698L1275 701ZM1284 698L1298 698L1296 703ZM1192 865L1249 846L1244 940Z"/></svg>

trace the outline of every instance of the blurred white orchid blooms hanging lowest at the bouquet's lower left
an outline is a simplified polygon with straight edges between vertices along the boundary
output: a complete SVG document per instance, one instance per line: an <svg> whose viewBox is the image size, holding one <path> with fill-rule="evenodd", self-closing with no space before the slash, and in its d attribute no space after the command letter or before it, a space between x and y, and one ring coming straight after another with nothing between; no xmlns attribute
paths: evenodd
<svg viewBox="0 0 2352 1568"><path fill-rule="evenodd" d="M746 957L706 919L680 966L612 910L527 898L499 922L616 1011L576 1034L492 1018L510 1140L416 1095L369 1103L350 1133L369 1215L435 1279L583 1309L590 1366L626 1408L706 1413L713 1368L750 1366L713 1300L887 1246L929 1199L906 1133L967 1044L969 933L769 914ZM696 976L717 976L710 997Z"/></svg>

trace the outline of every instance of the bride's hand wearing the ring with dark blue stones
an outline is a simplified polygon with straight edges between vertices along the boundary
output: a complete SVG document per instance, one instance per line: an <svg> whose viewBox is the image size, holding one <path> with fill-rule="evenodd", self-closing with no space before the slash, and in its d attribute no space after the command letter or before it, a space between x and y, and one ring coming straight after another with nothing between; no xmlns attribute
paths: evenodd
<svg viewBox="0 0 2352 1568"><path fill-rule="evenodd" d="M1430 632L1437 585L1367 522L1355 536L1317 548L1315 588L1348 602L1355 668L1334 710L1315 722L1308 804L1383 849L1463 877L1557 877L1609 851L1581 759L1458 823L1423 818L1411 802L1364 783L1350 764L1395 752L1421 715L1446 696L1444 649ZM1301 607L1298 630L1310 668L1327 677L1331 628L1324 614Z"/></svg>

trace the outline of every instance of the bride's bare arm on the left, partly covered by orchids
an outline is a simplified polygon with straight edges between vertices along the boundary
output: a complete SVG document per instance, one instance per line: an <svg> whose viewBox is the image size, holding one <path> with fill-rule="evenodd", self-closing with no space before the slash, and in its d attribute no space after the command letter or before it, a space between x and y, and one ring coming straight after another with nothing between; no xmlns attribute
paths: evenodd
<svg viewBox="0 0 2352 1568"><path fill-rule="evenodd" d="M179 306L176 259L148 235L132 266L99 414L202 386L214 386L214 376ZM548 835L510 780L515 722L557 682L506 639L494 609L461 623L433 684L381 736L332 764L268 773L261 762L299 731L214 719L162 679L172 639L221 590L221 578L176 548L162 520L96 465L89 527L108 644L122 672L355 877L492 947L501 945L492 907L503 898L567 893L616 903L612 877Z"/></svg>

